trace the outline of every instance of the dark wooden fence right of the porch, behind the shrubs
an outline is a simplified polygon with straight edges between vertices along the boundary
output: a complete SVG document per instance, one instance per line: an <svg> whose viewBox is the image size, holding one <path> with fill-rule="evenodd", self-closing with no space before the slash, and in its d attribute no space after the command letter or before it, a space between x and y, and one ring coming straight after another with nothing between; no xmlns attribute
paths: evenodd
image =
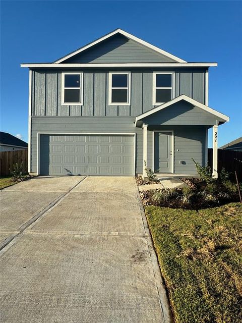
<svg viewBox="0 0 242 323"><path fill-rule="evenodd" d="M213 148L208 148L208 164L213 166ZM239 181L242 181L242 151L218 149L218 173L224 168L231 173L231 179L235 179L237 172Z"/></svg>

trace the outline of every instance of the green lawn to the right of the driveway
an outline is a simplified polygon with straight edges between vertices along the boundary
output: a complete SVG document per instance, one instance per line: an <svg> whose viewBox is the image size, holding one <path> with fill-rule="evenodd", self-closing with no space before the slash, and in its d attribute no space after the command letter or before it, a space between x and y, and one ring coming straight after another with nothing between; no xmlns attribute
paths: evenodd
<svg viewBox="0 0 242 323"><path fill-rule="evenodd" d="M145 211L175 322L242 322L242 204Z"/></svg>

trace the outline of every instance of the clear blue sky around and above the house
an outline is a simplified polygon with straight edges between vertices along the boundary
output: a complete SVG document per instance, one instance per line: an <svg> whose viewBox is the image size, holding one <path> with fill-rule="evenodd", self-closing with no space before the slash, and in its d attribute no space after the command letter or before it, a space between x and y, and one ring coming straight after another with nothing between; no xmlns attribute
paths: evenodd
<svg viewBox="0 0 242 323"><path fill-rule="evenodd" d="M1 1L1 130L28 140L20 63L52 62L121 28L186 61L218 62L209 105L230 117L221 146L242 135L241 17L240 1Z"/></svg>

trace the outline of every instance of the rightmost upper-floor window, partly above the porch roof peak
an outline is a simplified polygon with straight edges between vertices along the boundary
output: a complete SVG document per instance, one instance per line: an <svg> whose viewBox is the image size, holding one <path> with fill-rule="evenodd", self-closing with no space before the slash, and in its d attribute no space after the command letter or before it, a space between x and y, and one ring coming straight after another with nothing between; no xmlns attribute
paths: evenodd
<svg viewBox="0 0 242 323"><path fill-rule="evenodd" d="M153 105L162 104L174 98L174 73L153 73Z"/></svg>

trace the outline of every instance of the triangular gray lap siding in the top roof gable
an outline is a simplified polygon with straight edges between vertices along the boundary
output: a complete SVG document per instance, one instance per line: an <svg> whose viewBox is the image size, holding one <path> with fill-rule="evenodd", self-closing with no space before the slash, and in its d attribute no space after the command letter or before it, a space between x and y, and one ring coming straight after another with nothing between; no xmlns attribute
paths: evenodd
<svg viewBox="0 0 242 323"><path fill-rule="evenodd" d="M172 63L174 60L123 35L114 35L65 63Z"/></svg>

